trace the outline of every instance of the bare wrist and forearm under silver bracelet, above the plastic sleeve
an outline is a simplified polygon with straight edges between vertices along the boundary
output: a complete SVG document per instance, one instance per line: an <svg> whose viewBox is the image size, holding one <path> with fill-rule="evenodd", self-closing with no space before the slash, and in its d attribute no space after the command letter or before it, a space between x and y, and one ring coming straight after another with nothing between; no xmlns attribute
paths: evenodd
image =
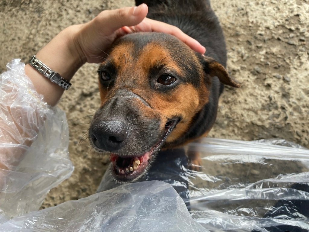
<svg viewBox="0 0 309 232"><path fill-rule="evenodd" d="M86 62L86 58L83 58L76 49L78 46L74 42L76 28L78 25L66 28L36 54L36 58L67 81L70 81L75 72ZM25 72L32 80L36 91L43 95L44 101L51 106L56 105L64 89L52 83L29 64L25 66Z"/></svg>

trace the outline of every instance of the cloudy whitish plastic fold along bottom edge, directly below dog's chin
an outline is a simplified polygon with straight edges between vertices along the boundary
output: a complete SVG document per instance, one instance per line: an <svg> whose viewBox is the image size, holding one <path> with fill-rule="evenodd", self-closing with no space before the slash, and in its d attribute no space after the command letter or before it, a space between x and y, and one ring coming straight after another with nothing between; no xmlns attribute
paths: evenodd
<svg viewBox="0 0 309 232"><path fill-rule="evenodd" d="M0 231L207 232L170 184L126 184L16 217Z"/></svg>

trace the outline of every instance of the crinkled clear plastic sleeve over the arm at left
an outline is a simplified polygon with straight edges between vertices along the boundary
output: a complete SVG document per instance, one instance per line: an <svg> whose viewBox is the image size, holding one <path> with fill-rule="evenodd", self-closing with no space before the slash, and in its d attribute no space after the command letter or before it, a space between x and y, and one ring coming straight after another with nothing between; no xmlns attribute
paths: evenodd
<svg viewBox="0 0 309 232"><path fill-rule="evenodd" d="M44 103L24 67L14 59L0 75L0 224L39 209L73 171L66 115Z"/></svg>

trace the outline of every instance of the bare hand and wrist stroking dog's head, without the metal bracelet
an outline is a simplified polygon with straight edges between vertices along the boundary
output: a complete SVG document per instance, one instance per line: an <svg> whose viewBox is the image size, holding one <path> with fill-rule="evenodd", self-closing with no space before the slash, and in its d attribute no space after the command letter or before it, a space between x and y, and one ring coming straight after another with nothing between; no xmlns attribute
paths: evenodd
<svg viewBox="0 0 309 232"><path fill-rule="evenodd" d="M102 62L106 55L105 51L113 41L128 33L169 33L193 50L201 54L205 53L205 48L199 42L184 34L179 28L145 18L147 12L146 4L102 11L86 24L70 26L61 31L38 51L36 57L49 68L57 71L64 79L70 81L85 62ZM26 65L25 71L37 92L44 96L44 101L49 105L57 104L64 91L63 88L43 77L29 64Z"/></svg>

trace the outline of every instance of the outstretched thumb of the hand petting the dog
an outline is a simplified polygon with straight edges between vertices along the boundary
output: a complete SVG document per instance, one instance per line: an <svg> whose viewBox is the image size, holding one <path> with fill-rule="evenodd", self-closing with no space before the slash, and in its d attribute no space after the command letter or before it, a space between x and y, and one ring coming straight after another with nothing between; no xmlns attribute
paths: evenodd
<svg viewBox="0 0 309 232"><path fill-rule="evenodd" d="M112 11L103 11L102 15L105 25L108 25L110 32L114 32L124 26L135 26L143 21L148 13L148 7L146 4L141 4L135 7L124 7ZM100 15L98 15L100 17ZM107 29L107 28L106 28Z"/></svg>

